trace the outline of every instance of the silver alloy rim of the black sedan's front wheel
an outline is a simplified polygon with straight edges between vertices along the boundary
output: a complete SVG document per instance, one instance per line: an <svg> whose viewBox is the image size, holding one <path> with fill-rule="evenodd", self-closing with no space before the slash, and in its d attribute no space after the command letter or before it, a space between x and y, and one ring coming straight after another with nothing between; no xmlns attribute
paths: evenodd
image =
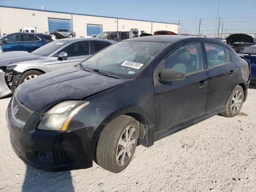
<svg viewBox="0 0 256 192"><path fill-rule="evenodd" d="M119 139L117 150L116 150L116 161L122 166L132 156L136 141L136 130L134 126L128 126L125 128L122 136Z"/></svg>

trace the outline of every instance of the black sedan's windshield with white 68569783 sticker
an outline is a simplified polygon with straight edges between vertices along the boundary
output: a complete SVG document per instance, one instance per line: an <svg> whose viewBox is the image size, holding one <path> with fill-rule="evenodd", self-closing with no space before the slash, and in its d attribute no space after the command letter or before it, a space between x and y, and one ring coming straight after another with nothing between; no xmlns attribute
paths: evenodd
<svg viewBox="0 0 256 192"><path fill-rule="evenodd" d="M134 78L150 64L168 43L122 41L85 60L82 68L98 69L121 78Z"/></svg>

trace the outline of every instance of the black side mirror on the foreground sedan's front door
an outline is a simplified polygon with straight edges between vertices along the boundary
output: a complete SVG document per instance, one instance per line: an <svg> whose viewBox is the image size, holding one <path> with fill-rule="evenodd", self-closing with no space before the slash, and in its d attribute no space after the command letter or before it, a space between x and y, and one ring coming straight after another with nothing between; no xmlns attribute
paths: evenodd
<svg viewBox="0 0 256 192"><path fill-rule="evenodd" d="M165 69L160 72L159 78L160 82L180 81L184 80L185 74L180 71Z"/></svg>

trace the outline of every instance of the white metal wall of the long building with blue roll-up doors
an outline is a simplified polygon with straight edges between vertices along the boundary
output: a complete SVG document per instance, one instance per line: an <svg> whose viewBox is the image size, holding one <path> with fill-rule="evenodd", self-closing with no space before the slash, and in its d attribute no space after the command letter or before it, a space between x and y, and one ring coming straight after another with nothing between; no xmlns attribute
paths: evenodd
<svg viewBox="0 0 256 192"><path fill-rule="evenodd" d="M107 18L98 16L86 16L68 13L56 13L40 10L28 10L21 8L0 7L0 32L18 32L19 28L37 27L38 32L48 31L48 18L70 19L72 20L73 31L76 37L86 36L86 24L102 25L103 31L130 31L131 28L146 30L152 33L157 30L170 30L178 32L178 24L165 24L158 22L127 20L117 18Z"/></svg>

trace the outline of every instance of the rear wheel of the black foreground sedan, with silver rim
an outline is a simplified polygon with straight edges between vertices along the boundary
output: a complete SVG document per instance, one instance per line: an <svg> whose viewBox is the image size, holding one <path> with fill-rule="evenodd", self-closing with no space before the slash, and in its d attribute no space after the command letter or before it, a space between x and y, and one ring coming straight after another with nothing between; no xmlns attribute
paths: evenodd
<svg viewBox="0 0 256 192"><path fill-rule="evenodd" d="M226 109L221 114L227 117L236 116L240 112L243 102L244 102L244 90L240 85L238 85L236 86L236 88L234 88L234 90L230 94L228 103L226 105Z"/></svg>

